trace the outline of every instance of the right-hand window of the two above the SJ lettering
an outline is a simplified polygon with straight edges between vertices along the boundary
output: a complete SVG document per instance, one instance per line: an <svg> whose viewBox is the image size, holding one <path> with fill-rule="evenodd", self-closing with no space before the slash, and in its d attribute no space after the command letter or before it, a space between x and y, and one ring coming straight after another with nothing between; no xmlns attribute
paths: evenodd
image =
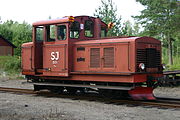
<svg viewBox="0 0 180 120"><path fill-rule="evenodd" d="M66 39L66 26L65 25L57 26L57 38L58 40Z"/></svg>

